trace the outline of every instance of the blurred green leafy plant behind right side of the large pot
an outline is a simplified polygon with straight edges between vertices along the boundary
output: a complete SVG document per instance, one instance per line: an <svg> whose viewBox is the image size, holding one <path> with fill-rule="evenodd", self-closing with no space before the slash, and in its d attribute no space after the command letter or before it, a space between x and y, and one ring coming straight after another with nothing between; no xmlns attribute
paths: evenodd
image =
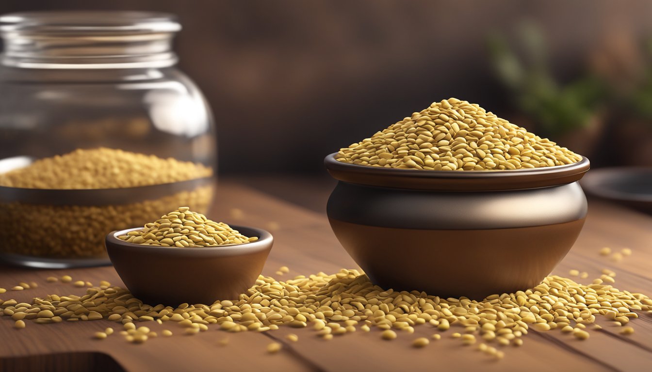
<svg viewBox="0 0 652 372"><path fill-rule="evenodd" d="M591 157L604 126L600 102L606 89L602 80L586 74L560 83L550 70L541 31L524 24L519 36L522 58L505 36L494 35L488 40L497 77L509 89L514 106L523 116L517 124L534 127L532 130L539 136Z"/></svg>

